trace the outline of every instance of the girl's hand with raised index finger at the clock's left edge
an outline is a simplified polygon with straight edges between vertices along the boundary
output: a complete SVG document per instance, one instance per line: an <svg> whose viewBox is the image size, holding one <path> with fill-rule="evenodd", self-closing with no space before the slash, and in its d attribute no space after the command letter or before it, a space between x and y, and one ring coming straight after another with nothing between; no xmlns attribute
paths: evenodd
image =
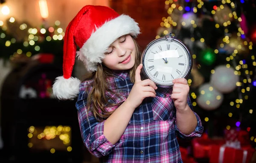
<svg viewBox="0 0 256 163"><path fill-rule="evenodd" d="M140 70L142 64L140 64L135 71L135 83L131 89L131 92L126 99L126 102L129 102L131 107L134 109L137 108L146 97L156 97L155 90L157 89L156 84L150 79L141 80Z"/></svg>

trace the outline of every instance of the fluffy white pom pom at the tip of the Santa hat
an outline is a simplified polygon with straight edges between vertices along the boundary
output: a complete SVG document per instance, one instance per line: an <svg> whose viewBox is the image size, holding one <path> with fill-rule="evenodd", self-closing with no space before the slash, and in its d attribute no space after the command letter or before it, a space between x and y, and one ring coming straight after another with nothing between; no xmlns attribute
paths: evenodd
<svg viewBox="0 0 256 163"><path fill-rule="evenodd" d="M80 83L77 78L65 79L63 76L58 76L52 85L53 96L61 100L74 99L79 93Z"/></svg>

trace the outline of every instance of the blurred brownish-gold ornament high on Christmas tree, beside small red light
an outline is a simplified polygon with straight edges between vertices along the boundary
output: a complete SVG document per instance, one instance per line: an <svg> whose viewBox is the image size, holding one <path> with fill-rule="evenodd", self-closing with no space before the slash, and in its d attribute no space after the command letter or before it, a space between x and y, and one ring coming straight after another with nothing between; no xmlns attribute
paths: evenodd
<svg viewBox="0 0 256 163"><path fill-rule="evenodd" d="M213 15L213 19L219 25L223 25L224 22L231 21L232 17L229 17L229 14L232 13L231 9L227 5L223 5L224 8L217 8L215 14Z"/></svg>

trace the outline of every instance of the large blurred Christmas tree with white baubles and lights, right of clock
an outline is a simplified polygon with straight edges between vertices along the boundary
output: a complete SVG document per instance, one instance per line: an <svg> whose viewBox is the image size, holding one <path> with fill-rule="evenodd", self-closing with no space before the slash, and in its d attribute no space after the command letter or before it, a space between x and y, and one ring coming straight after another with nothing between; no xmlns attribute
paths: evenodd
<svg viewBox="0 0 256 163"><path fill-rule="evenodd" d="M255 5L236 0L166 0L157 37L169 32L182 40L193 58L188 78L194 111L209 137L235 127L256 145ZM249 138L248 138L249 139Z"/></svg>

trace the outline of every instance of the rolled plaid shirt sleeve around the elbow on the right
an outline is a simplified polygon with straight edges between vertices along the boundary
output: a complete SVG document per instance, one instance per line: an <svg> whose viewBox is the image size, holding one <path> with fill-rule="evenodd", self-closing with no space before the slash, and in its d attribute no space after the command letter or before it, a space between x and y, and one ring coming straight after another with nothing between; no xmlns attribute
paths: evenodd
<svg viewBox="0 0 256 163"><path fill-rule="evenodd" d="M187 98L187 103L190 107L190 109L193 111L193 107L192 107L192 104L191 104L191 101L190 101L190 97L188 96ZM194 112L194 111L193 111ZM204 127L202 126L202 122L201 122L201 119L200 117L194 112L195 114L195 117L197 119L197 125L195 127L195 130L189 134L189 135L185 135L183 134L180 129L178 129L177 125L176 125L176 122L177 122L177 119L176 119L176 108L175 108L175 131L177 133L177 136L179 138L182 138L182 139L191 139L193 137L201 137L203 131L204 131Z"/></svg>

